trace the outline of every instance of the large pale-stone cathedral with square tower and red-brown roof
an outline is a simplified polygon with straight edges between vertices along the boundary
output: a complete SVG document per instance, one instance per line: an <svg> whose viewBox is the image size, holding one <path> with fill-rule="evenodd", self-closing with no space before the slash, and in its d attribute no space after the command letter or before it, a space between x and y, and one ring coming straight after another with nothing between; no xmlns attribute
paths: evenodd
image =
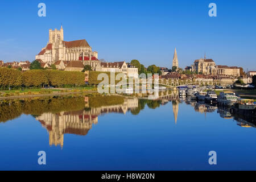
<svg viewBox="0 0 256 182"><path fill-rule="evenodd" d="M85 39L70 42L64 41L62 26L60 30L49 30L49 42L35 58L48 64L53 64L60 60L82 61L84 64L96 67L96 64L100 63L98 52L92 51L92 47L89 46Z"/></svg>

